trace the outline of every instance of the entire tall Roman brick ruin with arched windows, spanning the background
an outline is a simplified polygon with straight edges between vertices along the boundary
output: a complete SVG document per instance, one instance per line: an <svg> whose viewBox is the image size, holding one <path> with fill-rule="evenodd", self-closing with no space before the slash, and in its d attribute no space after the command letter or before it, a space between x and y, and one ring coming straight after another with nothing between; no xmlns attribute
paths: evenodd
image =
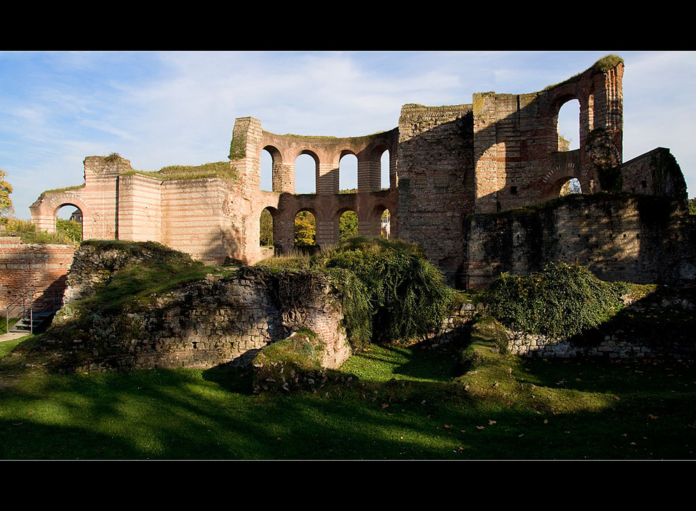
<svg viewBox="0 0 696 511"><path fill-rule="evenodd" d="M406 104L397 128L361 137L277 135L264 131L258 119L238 118L229 155L238 174L234 182L166 180L133 171L125 159L88 157L84 187L42 195L32 219L50 231L58 207L74 203L84 212L85 238L151 239L210 264L253 264L292 251L294 217L301 210L315 215L317 244L330 246L338 241L342 212L358 214L361 235L379 235L379 215L388 209L393 237L421 244L450 284L480 287L507 254L479 253L477 244L491 246L493 233L471 228L487 223L469 215L543 203L571 178L583 191L601 191L599 170L621 163L623 70L623 63L606 71L590 68L538 93L476 93L472 104ZM580 103L580 149L574 151L557 132L558 111L569 100ZM273 158L273 191L260 190L264 149ZM390 152L386 190L379 189L383 150ZM686 200L683 175L665 151L623 164L622 190ZM339 161L348 152L358 157L358 191L339 194ZM294 161L301 154L317 162L315 194L294 193ZM275 249L259 245L264 208L274 220ZM521 233L516 243L525 239L530 235ZM528 271L529 259L520 256L506 267ZM623 269L617 273L633 278Z"/></svg>

